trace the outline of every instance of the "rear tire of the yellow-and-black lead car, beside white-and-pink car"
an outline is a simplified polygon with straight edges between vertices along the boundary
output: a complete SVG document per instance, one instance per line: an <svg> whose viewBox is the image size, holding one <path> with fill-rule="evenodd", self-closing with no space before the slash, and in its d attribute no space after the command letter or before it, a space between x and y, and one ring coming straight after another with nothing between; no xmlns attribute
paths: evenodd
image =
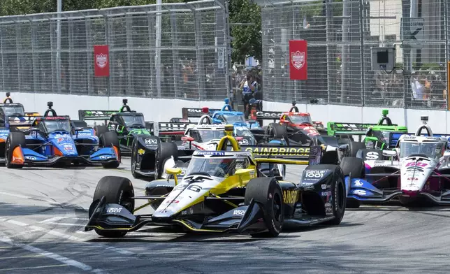
<svg viewBox="0 0 450 274"><path fill-rule="evenodd" d="M344 184L344 175L341 168L337 167L334 172L333 182L331 183L331 197L333 197L333 215L334 219L331 219L325 224L331 224L336 226L340 224L345 214L345 208L347 203Z"/></svg>

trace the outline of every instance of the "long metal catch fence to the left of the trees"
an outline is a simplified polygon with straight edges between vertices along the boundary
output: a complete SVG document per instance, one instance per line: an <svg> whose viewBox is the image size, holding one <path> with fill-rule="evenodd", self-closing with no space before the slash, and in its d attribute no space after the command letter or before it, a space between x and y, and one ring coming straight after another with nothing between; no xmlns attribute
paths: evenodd
<svg viewBox="0 0 450 274"><path fill-rule="evenodd" d="M0 90L222 100L229 87L221 2L0 17ZM94 77L94 45L109 45L109 77Z"/></svg>

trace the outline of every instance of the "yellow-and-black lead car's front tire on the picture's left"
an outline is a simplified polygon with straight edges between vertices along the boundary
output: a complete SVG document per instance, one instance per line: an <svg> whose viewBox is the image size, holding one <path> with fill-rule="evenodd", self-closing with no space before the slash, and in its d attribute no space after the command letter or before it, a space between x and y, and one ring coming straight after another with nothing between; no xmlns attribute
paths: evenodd
<svg viewBox="0 0 450 274"><path fill-rule="evenodd" d="M106 176L99 180L94 192L93 202L105 196L106 203L117 203L124 206L126 210L133 213L134 210L134 189L133 184L127 178L118 176ZM94 209L94 208L93 208ZM89 218L92 212L89 212ZM97 234L107 238L120 238L126 235L127 231L106 231L94 229Z"/></svg>

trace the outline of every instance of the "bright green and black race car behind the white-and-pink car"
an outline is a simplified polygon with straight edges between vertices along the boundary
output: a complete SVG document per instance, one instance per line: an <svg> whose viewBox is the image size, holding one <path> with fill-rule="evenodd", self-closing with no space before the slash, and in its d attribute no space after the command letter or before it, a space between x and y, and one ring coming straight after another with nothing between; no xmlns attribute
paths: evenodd
<svg viewBox="0 0 450 274"><path fill-rule="evenodd" d="M393 124L391 119L387 116L389 110L382 110L382 117L377 124L363 124L363 123L344 123L344 122L328 122L327 134L328 136L335 136L342 139L354 140L354 136L358 136L365 147L384 150L395 147L397 139L391 139L391 134L406 134L407 127ZM384 124L384 122L386 122Z"/></svg>

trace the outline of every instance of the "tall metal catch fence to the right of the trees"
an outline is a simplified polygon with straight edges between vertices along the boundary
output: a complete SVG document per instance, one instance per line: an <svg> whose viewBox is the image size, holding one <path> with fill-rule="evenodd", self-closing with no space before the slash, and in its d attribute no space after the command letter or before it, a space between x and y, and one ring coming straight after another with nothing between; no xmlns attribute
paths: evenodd
<svg viewBox="0 0 450 274"><path fill-rule="evenodd" d="M265 100L447 109L446 0L257 2ZM408 20L423 22L416 40L402 33ZM307 40L307 81L289 80L293 39ZM393 71L372 71L370 48L379 46L396 48Z"/></svg>

